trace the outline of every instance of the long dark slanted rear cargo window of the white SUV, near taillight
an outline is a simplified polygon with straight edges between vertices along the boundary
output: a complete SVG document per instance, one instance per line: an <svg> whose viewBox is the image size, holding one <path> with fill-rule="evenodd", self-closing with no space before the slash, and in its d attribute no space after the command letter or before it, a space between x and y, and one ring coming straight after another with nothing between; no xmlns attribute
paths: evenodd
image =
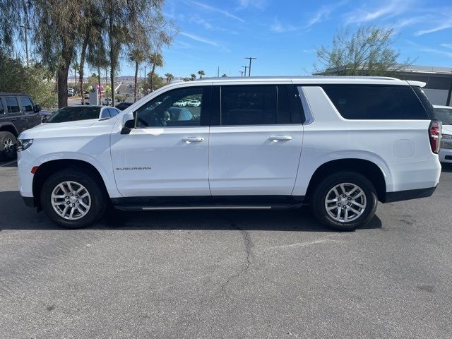
<svg viewBox="0 0 452 339"><path fill-rule="evenodd" d="M345 119L429 119L408 86L325 85L323 90Z"/></svg>

